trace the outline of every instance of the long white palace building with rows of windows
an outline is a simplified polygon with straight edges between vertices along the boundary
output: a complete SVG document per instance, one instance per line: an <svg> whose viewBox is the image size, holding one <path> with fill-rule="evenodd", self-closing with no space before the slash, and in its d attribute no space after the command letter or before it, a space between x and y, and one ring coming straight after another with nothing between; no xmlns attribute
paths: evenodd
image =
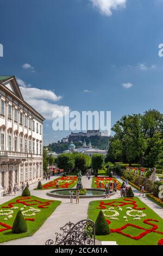
<svg viewBox="0 0 163 256"><path fill-rule="evenodd" d="M43 120L23 100L15 76L0 76L0 186L5 191L42 179Z"/></svg>

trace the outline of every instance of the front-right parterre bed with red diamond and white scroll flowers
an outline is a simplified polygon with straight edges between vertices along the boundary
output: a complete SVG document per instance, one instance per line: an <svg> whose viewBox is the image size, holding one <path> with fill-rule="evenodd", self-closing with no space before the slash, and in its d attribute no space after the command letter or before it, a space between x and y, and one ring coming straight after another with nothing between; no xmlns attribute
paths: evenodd
<svg viewBox="0 0 163 256"><path fill-rule="evenodd" d="M96 239L118 245L162 245L163 220L139 198L92 201L87 218L95 221L100 210L111 233Z"/></svg>

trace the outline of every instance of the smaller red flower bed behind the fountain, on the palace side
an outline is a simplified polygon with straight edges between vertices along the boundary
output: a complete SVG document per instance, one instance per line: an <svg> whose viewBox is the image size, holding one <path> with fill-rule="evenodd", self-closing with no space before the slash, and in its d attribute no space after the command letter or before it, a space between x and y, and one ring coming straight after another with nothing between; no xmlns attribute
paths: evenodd
<svg viewBox="0 0 163 256"><path fill-rule="evenodd" d="M43 190L49 190L57 187L57 181L59 181L59 188L72 188L77 184L77 176L62 176L55 180L49 181L48 183L42 185Z"/></svg>

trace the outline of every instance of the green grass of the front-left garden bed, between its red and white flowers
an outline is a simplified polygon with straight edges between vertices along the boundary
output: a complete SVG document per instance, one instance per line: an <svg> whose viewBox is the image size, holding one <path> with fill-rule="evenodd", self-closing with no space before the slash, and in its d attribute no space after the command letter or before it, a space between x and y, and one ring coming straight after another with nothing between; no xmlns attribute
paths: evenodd
<svg viewBox="0 0 163 256"><path fill-rule="evenodd" d="M24 218L32 218L35 221L29 221L29 220L27 221L28 231L26 233L12 234L11 229L1 231L1 229L5 228L5 227L3 227L3 223L12 227L12 224L14 223L15 216L16 216L18 210L20 210L24 206L24 204L16 202L16 200L20 200L21 198L24 198L22 200L26 204L29 204L29 206L24 208L22 210L22 212L26 211L26 210L29 210L30 207L33 207L37 210L38 209L41 210L40 212L35 212L34 216L24 216ZM21 200L21 202L22 202L22 200ZM35 201L34 202L29 202L31 200L32 201L37 200L41 203L35 202ZM16 207L18 207L18 209L3 208L3 206L8 206L9 203L15 203L15 202L16 202L16 204L13 204L11 206L16 206ZM42 203L46 203L46 202L49 202L49 205L43 206ZM2 243L2 242L5 242L5 241L18 239L18 238L25 237L25 236L32 236L35 233L35 231L41 227L43 222L45 222L46 219L52 214L52 212L57 208L57 206L60 205L60 203L61 203L60 201L56 201L56 200L46 200L46 199L30 196L30 197L26 197L26 199L25 199L25 197L15 197L14 199L0 205L0 210L3 210L3 211L4 210L12 210L12 211L14 211L13 214L12 214L12 217L9 218L8 220L4 220L4 218L7 218L7 216L0 216L0 242ZM35 204L35 205L32 205L32 204ZM47 207L47 208L44 208L44 209L39 208L40 205L42 205L42 207ZM7 212L7 211L4 211L4 212ZM0 213L2 214L3 212L0 212ZM32 214L32 212L27 212L26 214L30 215L30 214Z"/></svg>

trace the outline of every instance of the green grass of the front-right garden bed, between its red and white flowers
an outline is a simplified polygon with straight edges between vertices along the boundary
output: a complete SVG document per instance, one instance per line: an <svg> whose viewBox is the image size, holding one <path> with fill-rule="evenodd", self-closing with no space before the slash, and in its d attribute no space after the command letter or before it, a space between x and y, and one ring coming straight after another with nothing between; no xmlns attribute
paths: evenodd
<svg viewBox="0 0 163 256"><path fill-rule="evenodd" d="M111 223L109 224L110 229L117 229L117 228L121 228L126 224L134 224L137 225L139 227L145 228L145 229L151 229L153 228L152 225L149 224L145 224L143 223L144 220L147 219L153 219L153 220L157 220L158 222L154 222L154 221L149 221L152 224L156 224L158 225L158 229L155 229L155 231L161 231L162 234L158 234L158 233L148 233L146 236L142 237L139 240L135 240L132 239L130 237L124 236L122 234L118 234L118 233L111 233L109 235L106 236L96 236L97 240L102 240L102 241L116 241L118 245L158 245L158 241L163 239L163 220L157 215L155 214L155 212L153 210L151 210L150 208L148 208L147 205L145 205L144 203L141 202L141 200L137 197L134 197L133 200L136 201L136 204L138 205L137 208L145 208L145 210L143 211L143 214L146 214L146 217L142 217L141 220L133 220L133 217L130 217L126 214L126 211L128 211L128 209L126 209L128 206L133 208L134 205L124 205L121 206L122 211L118 210L117 206L120 205L120 203L118 202L126 202L124 201L124 198L122 199L110 199L110 200L104 200L104 203L110 203L113 201L116 201L116 207L115 206L111 206L111 205L105 205L106 209L109 209L111 207L114 207L114 210L116 210L120 215L116 218L118 218L118 220L111 220L109 217L105 217L107 220L110 220ZM89 209L87 211L87 218L91 219L92 221L96 221L96 218L98 216L98 213L100 211L100 209L97 209L97 207L99 207L101 201L92 201L89 204ZM107 215L112 215L114 214L114 212L105 212L105 214ZM131 214L137 214L132 212ZM123 216L127 216L128 221L125 221L123 219ZM145 232L145 230L142 229L138 229L135 227L131 227L130 225L128 227L126 227L125 229L122 230L123 233L125 234L129 234L131 236L139 236L141 233Z"/></svg>

